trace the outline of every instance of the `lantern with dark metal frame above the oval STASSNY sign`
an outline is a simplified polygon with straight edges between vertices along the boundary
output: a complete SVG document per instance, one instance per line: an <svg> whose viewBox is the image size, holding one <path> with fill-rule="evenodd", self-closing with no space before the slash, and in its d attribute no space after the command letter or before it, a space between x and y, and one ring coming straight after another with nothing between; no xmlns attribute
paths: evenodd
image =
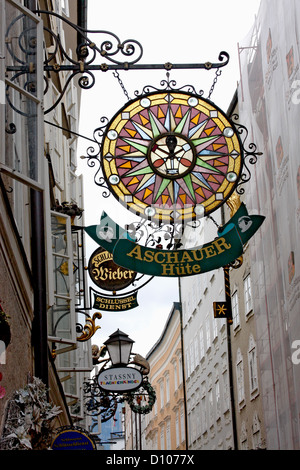
<svg viewBox="0 0 300 470"><path fill-rule="evenodd" d="M112 333L104 345L107 347L111 363L114 367L127 365L134 341L119 329Z"/></svg>

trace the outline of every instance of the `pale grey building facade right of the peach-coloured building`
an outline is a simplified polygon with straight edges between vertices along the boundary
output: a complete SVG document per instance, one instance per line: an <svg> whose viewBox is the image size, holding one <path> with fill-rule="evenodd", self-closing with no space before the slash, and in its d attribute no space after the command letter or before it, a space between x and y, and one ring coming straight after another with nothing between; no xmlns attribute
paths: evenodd
<svg viewBox="0 0 300 470"><path fill-rule="evenodd" d="M221 214L214 214L217 224ZM186 246L213 239L215 224L201 222ZM192 237L193 239L189 239ZM195 238L196 237L196 238ZM214 318L213 302L224 301L222 269L180 280L188 414L188 448L234 449L226 319Z"/></svg>

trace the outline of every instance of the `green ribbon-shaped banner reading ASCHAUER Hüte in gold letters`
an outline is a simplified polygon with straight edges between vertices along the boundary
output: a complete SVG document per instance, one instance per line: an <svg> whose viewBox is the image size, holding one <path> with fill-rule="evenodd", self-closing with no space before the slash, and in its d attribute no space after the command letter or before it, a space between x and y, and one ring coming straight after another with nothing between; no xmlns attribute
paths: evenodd
<svg viewBox="0 0 300 470"><path fill-rule="evenodd" d="M260 215L249 216L246 206L241 204L234 216L219 229L218 238L192 250L169 251L141 246L105 213L100 225L90 225L85 231L113 254L113 260L119 266L151 276L181 277L233 263L243 254L244 244L264 219Z"/></svg>

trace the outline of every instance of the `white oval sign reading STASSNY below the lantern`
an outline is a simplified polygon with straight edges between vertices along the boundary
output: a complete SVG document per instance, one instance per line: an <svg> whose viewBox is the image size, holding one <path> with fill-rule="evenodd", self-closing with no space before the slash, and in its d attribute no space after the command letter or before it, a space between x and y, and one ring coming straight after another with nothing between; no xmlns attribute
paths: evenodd
<svg viewBox="0 0 300 470"><path fill-rule="evenodd" d="M98 374L97 382L107 392L128 392L142 385L143 376L133 367L111 367Z"/></svg>

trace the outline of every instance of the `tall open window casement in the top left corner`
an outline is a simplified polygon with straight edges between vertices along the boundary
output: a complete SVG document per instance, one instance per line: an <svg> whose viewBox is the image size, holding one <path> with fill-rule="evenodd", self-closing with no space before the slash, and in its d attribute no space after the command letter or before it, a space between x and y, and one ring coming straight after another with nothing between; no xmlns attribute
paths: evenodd
<svg viewBox="0 0 300 470"><path fill-rule="evenodd" d="M17 3L3 2L2 10L0 49L6 67L15 70L7 69L4 76L4 67L1 68L0 83L3 92L6 87L3 93L6 102L5 115L0 111L0 167L13 179L43 189L43 68L40 67L43 25L40 18ZM19 67L29 60L34 73L21 73Z"/></svg>

